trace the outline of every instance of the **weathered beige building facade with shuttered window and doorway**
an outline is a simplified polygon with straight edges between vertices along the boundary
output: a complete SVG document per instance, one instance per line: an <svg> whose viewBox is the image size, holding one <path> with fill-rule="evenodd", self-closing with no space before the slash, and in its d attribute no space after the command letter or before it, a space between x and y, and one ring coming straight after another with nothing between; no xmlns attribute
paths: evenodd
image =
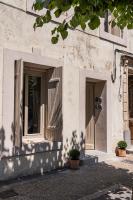
<svg viewBox="0 0 133 200"><path fill-rule="evenodd" d="M0 3L0 180L62 167L72 146L112 153L132 130L133 32L101 20L53 45L32 3Z"/></svg>

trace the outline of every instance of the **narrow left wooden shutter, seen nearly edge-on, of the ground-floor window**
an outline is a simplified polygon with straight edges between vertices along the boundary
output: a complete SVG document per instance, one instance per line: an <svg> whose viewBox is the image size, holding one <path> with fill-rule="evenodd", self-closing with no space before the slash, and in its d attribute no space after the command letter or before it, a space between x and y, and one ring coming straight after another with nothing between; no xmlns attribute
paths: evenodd
<svg viewBox="0 0 133 200"><path fill-rule="evenodd" d="M14 143L21 147L23 135L23 61L15 63L15 92L14 92Z"/></svg>

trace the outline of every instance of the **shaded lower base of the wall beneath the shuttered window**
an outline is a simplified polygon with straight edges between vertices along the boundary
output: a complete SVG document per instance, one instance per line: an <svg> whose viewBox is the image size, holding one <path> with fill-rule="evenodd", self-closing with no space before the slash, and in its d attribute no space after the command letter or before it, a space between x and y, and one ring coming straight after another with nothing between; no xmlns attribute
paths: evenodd
<svg viewBox="0 0 133 200"><path fill-rule="evenodd" d="M0 180L3 181L32 174L43 174L46 171L54 170L61 166L61 151L7 157L0 161Z"/></svg>

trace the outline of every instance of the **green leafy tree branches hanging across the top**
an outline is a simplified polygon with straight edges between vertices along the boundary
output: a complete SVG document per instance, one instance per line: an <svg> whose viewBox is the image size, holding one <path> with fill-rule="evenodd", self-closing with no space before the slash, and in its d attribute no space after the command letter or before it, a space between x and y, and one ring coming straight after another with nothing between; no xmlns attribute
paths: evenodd
<svg viewBox="0 0 133 200"><path fill-rule="evenodd" d="M36 18L34 28L42 27L49 23L53 17L60 18L65 12L71 10L69 19L63 20L51 31L52 43L58 42L59 37L66 39L68 29L76 29L78 26L85 30L88 26L94 30L100 25L100 18L110 10L114 18L112 26L117 25L121 29L127 27L133 29L133 1L132 0L35 0L35 11L47 11Z"/></svg>

